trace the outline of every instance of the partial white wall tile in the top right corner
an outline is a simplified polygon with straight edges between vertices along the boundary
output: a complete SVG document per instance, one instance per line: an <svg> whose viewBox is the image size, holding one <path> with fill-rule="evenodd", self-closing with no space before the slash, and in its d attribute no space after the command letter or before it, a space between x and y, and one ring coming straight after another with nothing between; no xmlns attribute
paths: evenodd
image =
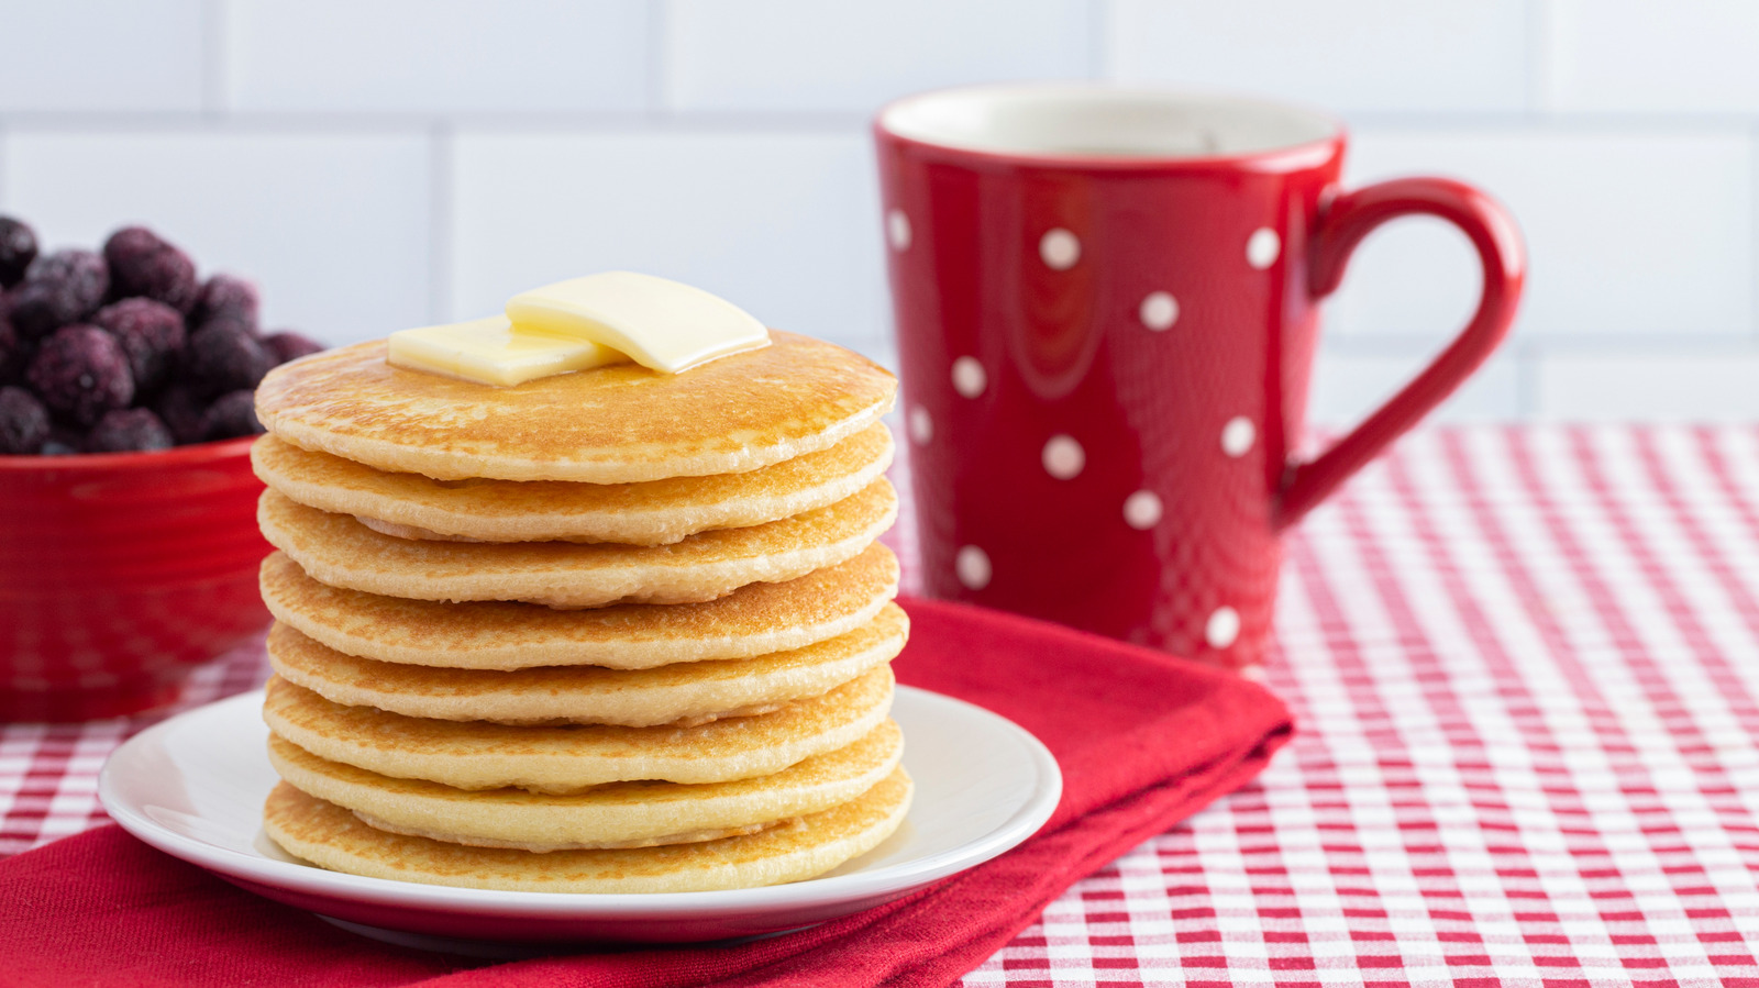
<svg viewBox="0 0 1759 988"><path fill-rule="evenodd" d="M1759 4L1550 0L1544 102L1560 111L1759 113Z"/></svg>

